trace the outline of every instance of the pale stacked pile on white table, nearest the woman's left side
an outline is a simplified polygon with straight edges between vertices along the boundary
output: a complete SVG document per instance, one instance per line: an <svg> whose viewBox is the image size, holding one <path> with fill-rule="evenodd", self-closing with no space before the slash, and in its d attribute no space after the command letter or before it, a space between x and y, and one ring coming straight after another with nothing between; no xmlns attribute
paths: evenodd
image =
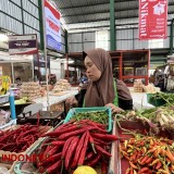
<svg viewBox="0 0 174 174"><path fill-rule="evenodd" d="M66 79L60 79L57 82L53 88L53 92L60 92L60 91L70 90L70 89L71 89L71 85L69 84L69 82Z"/></svg>

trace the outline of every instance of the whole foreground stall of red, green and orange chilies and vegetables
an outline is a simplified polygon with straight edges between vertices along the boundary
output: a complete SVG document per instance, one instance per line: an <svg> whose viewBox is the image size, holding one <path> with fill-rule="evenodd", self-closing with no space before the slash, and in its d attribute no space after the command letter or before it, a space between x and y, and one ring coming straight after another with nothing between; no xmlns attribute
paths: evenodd
<svg viewBox="0 0 174 174"><path fill-rule="evenodd" d="M52 128L39 120L7 128L0 134L0 151L28 157L11 162L16 174L174 173L173 100L163 94L151 97L165 103L119 114L105 107L73 108Z"/></svg>

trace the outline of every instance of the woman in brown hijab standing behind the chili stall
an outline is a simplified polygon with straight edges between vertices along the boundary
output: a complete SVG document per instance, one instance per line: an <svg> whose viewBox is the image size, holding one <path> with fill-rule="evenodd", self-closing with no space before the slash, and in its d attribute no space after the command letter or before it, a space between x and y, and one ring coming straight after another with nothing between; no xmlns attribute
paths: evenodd
<svg viewBox="0 0 174 174"><path fill-rule="evenodd" d="M133 99L127 86L113 78L110 54L103 49L83 52L88 86L83 107L110 107L113 113L133 109ZM77 103L69 98L67 103Z"/></svg>

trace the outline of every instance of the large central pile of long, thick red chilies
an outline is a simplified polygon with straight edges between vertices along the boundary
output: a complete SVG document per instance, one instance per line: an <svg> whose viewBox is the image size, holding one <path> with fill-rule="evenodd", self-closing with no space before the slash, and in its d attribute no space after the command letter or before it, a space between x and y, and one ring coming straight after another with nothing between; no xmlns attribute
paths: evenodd
<svg viewBox="0 0 174 174"><path fill-rule="evenodd" d="M46 134L47 140L40 146L37 169L40 173L72 173L79 165L101 164L102 174L107 174L111 157L110 146L116 136L105 130L104 124L89 120L70 121L53 132Z"/></svg>

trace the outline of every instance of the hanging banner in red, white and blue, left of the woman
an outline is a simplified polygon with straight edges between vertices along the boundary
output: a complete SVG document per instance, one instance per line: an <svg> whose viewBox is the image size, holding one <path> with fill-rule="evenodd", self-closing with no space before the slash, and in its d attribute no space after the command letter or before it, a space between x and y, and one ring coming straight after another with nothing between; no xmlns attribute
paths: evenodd
<svg viewBox="0 0 174 174"><path fill-rule="evenodd" d="M45 0L46 44L47 48L61 50L60 13Z"/></svg>

